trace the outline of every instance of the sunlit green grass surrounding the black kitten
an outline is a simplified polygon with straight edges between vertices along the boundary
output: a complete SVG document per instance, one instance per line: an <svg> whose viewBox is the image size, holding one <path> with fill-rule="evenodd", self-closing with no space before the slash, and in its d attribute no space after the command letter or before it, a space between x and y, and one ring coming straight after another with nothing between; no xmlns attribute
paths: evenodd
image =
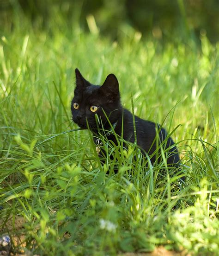
<svg viewBox="0 0 219 256"><path fill-rule="evenodd" d="M219 45L204 36L201 46L189 38L162 45L132 30L112 43L59 19L40 30L16 18L1 37L2 233L24 233L26 249L40 255L116 255L159 245L217 255ZM131 146L124 152L106 143L116 157L101 166L89 132L71 131L78 128L70 111L76 67L96 84L114 73L126 108L164 122L169 133L176 128L172 137L189 166L182 168L185 186L177 186L180 173L160 173L165 162L142 166ZM18 216L24 227L8 231L5 223Z"/></svg>

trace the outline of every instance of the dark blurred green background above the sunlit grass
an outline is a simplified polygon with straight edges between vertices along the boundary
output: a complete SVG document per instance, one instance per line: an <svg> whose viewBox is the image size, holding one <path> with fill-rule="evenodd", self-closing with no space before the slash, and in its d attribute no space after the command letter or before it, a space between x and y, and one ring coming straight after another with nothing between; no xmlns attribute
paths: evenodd
<svg viewBox="0 0 219 256"><path fill-rule="evenodd" d="M0 0L1 31L12 29L16 13L42 29L61 13L67 28L80 26L112 40L132 29L158 40L199 42L200 34L219 40L219 0Z"/></svg>

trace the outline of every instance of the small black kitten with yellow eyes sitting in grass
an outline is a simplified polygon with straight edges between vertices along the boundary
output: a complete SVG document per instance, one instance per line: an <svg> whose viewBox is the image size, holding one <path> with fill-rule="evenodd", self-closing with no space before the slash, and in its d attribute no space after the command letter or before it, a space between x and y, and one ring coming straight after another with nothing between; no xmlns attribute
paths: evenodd
<svg viewBox="0 0 219 256"><path fill-rule="evenodd" d="M73 122L77 123L80 128L87 128L87 123L94 135L94 141L99 143L98 135L105 134L108 140L116 143L115 135L106 133L111 130L112 126L116 134L122 135L122 120L123 120L123 139L134 143L134 122L133 115L127 109L122 107L119 93L119 83L115 75L110 74L102 86L93 85L82 77L78 69L75 70L76 87L72 100L71 110ZM97 122L98 116L99 123ZM110 123L111 126L110 126ZM164 128L159 125L143 120L138 116L134 116L137 145L140 147L143 154L148 154L151 162L156 160L156 154L153 152L156 149L156 128L159 132L158 142L162 143L167 138L167 133ZM163 148L168 151L167 164L177 166L180 162L177 148L174 141L169 137ZM152 156L153 154L153 156Z"/></svg>

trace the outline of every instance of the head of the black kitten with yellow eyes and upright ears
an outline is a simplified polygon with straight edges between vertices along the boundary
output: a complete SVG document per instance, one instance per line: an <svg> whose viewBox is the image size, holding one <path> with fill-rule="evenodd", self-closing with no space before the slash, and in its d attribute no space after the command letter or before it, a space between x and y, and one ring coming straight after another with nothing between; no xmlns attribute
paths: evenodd
<svg viewBox="0 0 219 256"><path fill-rule="evenodd" d="M97 117L105 129L117 122L122 111L119 94L119 83L115 75L106 77L102 86L93 85L75 70L76 87L72 100L73 122L80 128L87 128L87 122L91 129L97 129ZM107 116L107 117L106 117ZM87 120L87 122L86 122ZM100 125L101 127L102 125Z"/></svg>

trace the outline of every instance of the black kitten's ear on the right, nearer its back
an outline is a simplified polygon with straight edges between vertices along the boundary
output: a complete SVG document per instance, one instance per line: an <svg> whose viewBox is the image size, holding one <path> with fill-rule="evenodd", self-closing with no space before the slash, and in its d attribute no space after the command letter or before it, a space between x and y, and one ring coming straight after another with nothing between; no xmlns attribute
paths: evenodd
<svg viewBox="0 0 219 256"><path fill-rule="evenodd" d="M119 95L119 82L114 74L107 76L100 90L108 97L113 98Z"/></svg>

